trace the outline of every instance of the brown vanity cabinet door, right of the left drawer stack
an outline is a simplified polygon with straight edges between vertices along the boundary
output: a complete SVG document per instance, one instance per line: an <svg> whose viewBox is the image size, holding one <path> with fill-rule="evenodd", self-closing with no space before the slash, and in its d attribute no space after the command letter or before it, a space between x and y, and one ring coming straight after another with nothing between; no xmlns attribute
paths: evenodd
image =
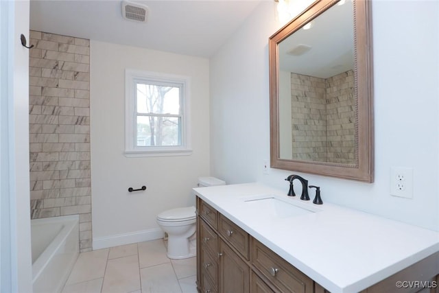
<svg viewBox="0 0 439 293"><path fill-rule="evenodd" d="M249 293L250 268L233 250L219 240L219 292Z"/></svg>

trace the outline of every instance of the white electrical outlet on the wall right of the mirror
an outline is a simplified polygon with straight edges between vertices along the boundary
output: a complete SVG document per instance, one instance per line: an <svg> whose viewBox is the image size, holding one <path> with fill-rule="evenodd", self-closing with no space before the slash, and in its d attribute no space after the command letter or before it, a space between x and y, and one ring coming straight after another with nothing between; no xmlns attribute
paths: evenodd
<svg viewBox="0 0 439 293"><path fill-rule="evenodd" d="M413 198L413 169L390 167L390 195Z"/></svg>

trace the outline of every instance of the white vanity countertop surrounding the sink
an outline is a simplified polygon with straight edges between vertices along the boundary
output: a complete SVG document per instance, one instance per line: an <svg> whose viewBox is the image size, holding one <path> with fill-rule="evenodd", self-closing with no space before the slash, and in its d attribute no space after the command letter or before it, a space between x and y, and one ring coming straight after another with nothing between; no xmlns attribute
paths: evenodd
<svg viewBox="0 0 439 293"><path fill-rule="evenodd" d="M259 183L195 194L333 293L359 292L439 251L439 233L335 204L313 204ZM316 211L279 218L245 200L266 196ZM406 280L401 280L406 281Z"/></svg>

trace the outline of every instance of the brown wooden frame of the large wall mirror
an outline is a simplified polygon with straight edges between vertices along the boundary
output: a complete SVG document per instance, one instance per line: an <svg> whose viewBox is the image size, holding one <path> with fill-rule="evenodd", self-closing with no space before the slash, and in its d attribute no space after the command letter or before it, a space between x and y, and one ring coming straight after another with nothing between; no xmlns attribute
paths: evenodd
<svg viewBox="0 0 439 293"><path fill-rule="evenodd" d="M353 0L354 12L354 92L355 140L357 163L296 161L281 159L279 152L278 110L278 44L303 25L331 8L339 0L318 0L304 12L287 23L269 39L270 67L270 166L296 172L333 176L372 183L374 179L373 142L373 77L372 77L372 27L369 0Z"/></svg>

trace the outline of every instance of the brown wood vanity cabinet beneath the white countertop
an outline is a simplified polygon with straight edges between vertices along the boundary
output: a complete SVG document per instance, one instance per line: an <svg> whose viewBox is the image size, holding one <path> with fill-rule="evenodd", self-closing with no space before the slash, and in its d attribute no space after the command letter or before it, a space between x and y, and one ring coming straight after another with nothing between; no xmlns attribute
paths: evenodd
<svg viewBox="0 0 439 293"><path fill-rule="evenodd" d="M197 198L197 289L201 293L329 293L230 219ZM395 281L439 286L439 253L362 292L420 292ZM424 292L424 291L423 291ZM431 288L430 293L439 293Z"/></svg>

